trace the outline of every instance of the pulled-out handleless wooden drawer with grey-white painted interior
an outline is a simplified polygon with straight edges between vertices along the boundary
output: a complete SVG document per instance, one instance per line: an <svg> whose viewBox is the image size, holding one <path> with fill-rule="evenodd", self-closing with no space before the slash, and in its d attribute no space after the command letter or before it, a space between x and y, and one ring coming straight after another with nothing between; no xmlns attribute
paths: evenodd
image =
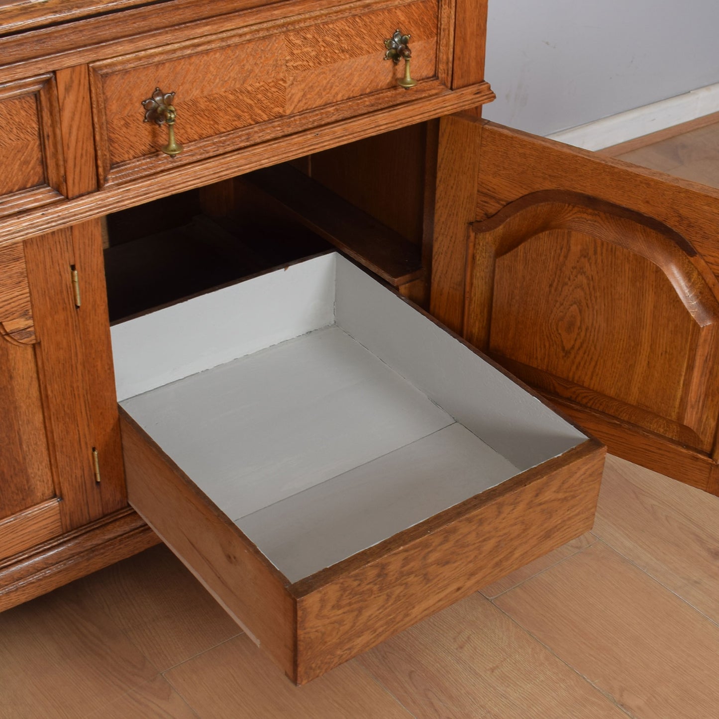
<svg viewBox="0 0 719 719"><path fill-rule="evenodd" d="M112 339L130 503L298 684L592 526L603 446L336 253Z"/></svg>

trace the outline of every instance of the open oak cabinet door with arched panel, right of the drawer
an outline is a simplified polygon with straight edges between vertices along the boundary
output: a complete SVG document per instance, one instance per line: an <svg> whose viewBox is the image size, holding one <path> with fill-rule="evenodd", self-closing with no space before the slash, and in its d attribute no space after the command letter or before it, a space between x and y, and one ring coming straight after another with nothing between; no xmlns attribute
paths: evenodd
<svg viewBox="0 0 719 719"><path fill-rule="evenodd" d="M610 452L719 494L719 191L460 116L440 148L433 313Z"/></svg>

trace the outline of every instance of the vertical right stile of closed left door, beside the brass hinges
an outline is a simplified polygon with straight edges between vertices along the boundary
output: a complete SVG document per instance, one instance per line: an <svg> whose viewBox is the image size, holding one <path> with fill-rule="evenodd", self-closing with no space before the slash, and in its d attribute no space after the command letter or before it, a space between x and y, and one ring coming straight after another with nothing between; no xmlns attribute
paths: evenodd
<svg viewBox="0 0 719 719"><path fill-rule="evenodd" d="M65 531L103 515L95 482L91 397L86 392L83 344L75 307L69 229L25 243L27 276L37 337L36 357L52 473Z"/></svg>

